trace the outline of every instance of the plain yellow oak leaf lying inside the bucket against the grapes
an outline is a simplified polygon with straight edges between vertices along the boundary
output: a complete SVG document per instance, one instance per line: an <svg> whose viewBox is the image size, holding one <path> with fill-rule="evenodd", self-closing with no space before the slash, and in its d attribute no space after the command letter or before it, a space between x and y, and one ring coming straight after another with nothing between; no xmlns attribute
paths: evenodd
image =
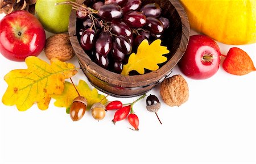
<svg viewBox="0 0 256 164"><path fill-rule="evenodd" d="M139 45L137 54L132 53L129 57L128 63L123 65L122 75L129 75L131 70L136 70L139 74L144 74L144 69L158 70L158 64L167 61L167 47L161 45L161 40L157 39L153 43L148 44L148 40L143 40Z"/></svg>

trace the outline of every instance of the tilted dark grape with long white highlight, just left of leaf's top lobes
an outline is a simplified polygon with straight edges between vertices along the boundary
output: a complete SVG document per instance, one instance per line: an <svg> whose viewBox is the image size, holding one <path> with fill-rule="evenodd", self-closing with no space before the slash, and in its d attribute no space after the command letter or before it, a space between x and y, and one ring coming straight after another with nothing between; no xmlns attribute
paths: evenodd
<svg viewBox="0 0 256 164"><path fill-rule="evenodd" d="M116 43L117 45L117 48L124 54L129 54L131 53L131 43L130 43L130 40L125 37L125 36L122 36L122 35L119 35L117 37L115 37L115 40L114 42Z"/></svg>

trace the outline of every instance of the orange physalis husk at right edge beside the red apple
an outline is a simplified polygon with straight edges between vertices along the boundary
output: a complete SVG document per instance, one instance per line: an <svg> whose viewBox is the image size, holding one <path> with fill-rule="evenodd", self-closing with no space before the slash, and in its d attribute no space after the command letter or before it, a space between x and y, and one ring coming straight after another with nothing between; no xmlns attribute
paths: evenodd
<svg viewBox="0 0 256 164"><path fill-rule="evenodd" d="M234 75L244 75L256 70L250 56L237 47L229 49L222 66L226 72Z"/></svg>

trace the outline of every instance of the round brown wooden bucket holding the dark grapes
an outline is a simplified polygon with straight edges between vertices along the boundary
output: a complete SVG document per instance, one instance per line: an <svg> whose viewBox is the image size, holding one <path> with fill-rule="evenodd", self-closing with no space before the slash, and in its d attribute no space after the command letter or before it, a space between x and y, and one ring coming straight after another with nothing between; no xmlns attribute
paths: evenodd
<svg viewBox="0 0 256 164"><path fill-rule="evenodd" d="M83 3L84 0L77 0ZM143 75L132 75L125 77L110 72L95 64L82 50L76 36L76 12L72 10L69 19L69 36L72 47L83 72L97 89L107 94L118 97L130 97L144 94L159 84L171 73L171 70L183 56L189 39L189 22L187 14L179 0L142 0L142 5L156 2L162 7L162 15L170 20L170 28L165 33L163 45L167 46L170 53L168 61L160 65L161 68ZM85 1L86 3L86 1Z"/></svg>

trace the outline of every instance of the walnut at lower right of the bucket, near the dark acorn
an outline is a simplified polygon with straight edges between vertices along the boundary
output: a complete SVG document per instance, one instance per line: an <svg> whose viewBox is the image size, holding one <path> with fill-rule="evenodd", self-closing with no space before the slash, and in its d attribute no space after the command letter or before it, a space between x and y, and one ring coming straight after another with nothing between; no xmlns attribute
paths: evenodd
<svg viewBox="0 0 256 164"><path fill-rule="evenodd" d="M181 75L174 75L160 84L160 95L168 106L180 106L188 100L188 83Z"/></svg>

